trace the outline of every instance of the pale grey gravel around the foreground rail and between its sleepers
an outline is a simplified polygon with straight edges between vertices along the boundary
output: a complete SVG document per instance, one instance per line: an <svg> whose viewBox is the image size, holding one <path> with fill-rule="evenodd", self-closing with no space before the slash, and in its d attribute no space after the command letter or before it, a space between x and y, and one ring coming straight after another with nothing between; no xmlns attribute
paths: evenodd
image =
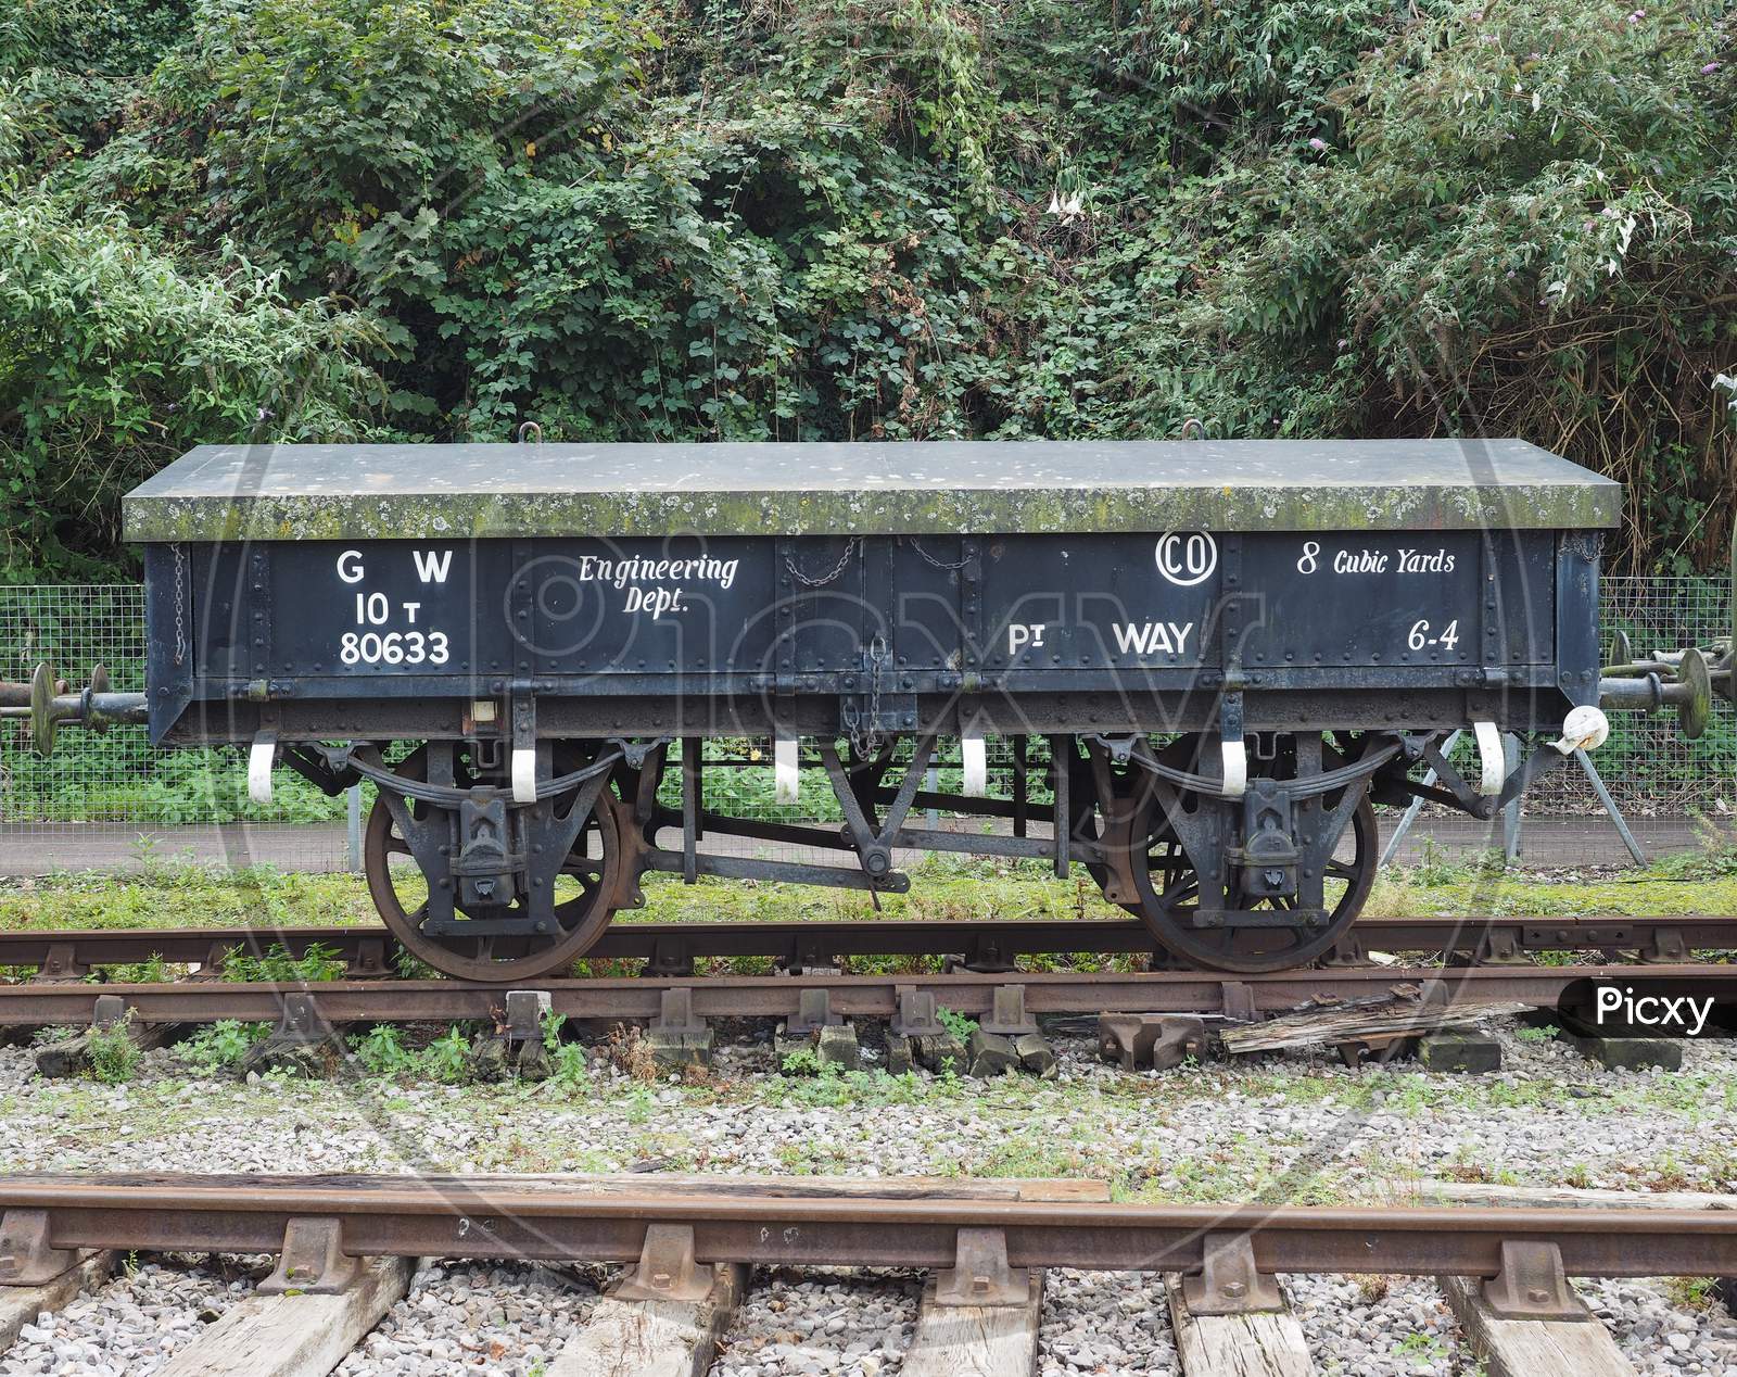
<svg viewBox="0 0 1737 1377"><path fill-rule="evenodd" d="M1461 1078L1414 1064L1353 1071L1325 1055L1124 1074L1087 1038L1067 1036L1051 1083L796 1081L754 1041L724 1047L709 1083L643 1083L598 1066L584 1088L240 1083L198 1078L174 1048L144 1054L132 1085L43 1083L26 1048L0 1048L0 1158L19 1172L1089 1175L1129 1198L1271 1203L1405 1201L1430 1177L1737 1189L1727 1092L1737 1055L1727 1047L1688 1045L1680 1073L1631 1073L1532 1033L1501 1040L1499 1074ZM31 1327L0 1374L155 1372L203 1327L201 1311L233 1304L236 1285L245 1294L247 1283L149 1264ZM1324 1374L1473 1370L1428 1281L1287 1287ZM1723 1306L1633 1281L1586 1295L1641 1372L1737 1377L1737 1325ZM443 1264L419 1274L339 1372L532 1377L592 1299L565 1271ZM915 1302L914 1276L763 1276L714 1374L891 1377ZM1039 1370L1176 1372L1160 1278L1051 1273Z"/></svg>

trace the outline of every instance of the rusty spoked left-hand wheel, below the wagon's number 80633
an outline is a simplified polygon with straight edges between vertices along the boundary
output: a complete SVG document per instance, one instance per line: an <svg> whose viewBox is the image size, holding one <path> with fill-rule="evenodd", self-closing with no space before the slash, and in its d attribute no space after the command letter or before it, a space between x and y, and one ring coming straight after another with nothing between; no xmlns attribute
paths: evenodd
<svg viewBox="0 0 1737 1377"><path fill-rule="evenodd" d="M457 784L469 788L478 781L466 775L464 762L457 762ZM426 777L424 751L406 756L396 770L412 779ZM571 807L571 798L559 807ZM439 812L433 803L405 800L412 817ZM429 880L417 868L410 843L405 840L384 802L375 800L363 833L363 869L368 876L368 894L386 927L403 942L405 949L446 975L464 981L525 981L549 975L584 956L603 935L613 915L613 895L620 878L620 822L615 795L604 786L598 803L580 828L573 847L561 864L554 902L554 927L547 934L485 934L466 935L426 932L429 918ZM394 864L394 857L403 857ZM408 864L405 864L408 862ZM481 927L490 920L516 920L525 916L523 899L507 906L455 909L460 920L476 920ZM462 921L459 927L462 928Z"/></svg>

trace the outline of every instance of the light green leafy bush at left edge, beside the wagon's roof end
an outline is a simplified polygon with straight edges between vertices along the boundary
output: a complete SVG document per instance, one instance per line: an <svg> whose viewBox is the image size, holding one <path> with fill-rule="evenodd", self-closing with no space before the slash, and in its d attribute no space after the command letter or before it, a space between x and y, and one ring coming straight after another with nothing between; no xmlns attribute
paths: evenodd
<svg viewBox="0 0 1737 1377"><path fill-rule="evenodd" d="M196 443L360 436L377 343L233 250L188 268L0 174L0 579L101 574L120 494Z"/></svg>

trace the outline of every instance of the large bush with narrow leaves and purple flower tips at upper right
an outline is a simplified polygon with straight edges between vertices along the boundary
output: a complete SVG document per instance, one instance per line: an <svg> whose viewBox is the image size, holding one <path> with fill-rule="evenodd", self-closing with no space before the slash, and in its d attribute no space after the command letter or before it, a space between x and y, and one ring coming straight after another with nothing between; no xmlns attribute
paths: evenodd
<svg viewBox="0 0 1737 1377"><path fill-rule="evenodd" d="M1256 433L1523 435L1629 485L1626 553L1720 567L1737 113L1713 7L1459 3L1377 47L1344 137L1232 186L1266 226L1214 323ZM1310 395L1310 400L1303 400ZM1225 393L1225 405L1235 405Z"/></svg>

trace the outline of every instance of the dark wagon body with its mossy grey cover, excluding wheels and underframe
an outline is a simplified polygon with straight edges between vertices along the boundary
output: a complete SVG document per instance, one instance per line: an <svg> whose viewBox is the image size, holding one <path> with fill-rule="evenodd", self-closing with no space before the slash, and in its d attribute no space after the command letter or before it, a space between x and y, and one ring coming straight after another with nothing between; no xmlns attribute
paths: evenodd
<svg viewBox="0 0 1737 1377"><path fill-rule="evenodd" d="M1225 692L1542 730L1596 701L1619 492L1520 442L288 445L195 450L127 534L170 742L460 734L514 683L547 735L1200 730Z"/></svg>

